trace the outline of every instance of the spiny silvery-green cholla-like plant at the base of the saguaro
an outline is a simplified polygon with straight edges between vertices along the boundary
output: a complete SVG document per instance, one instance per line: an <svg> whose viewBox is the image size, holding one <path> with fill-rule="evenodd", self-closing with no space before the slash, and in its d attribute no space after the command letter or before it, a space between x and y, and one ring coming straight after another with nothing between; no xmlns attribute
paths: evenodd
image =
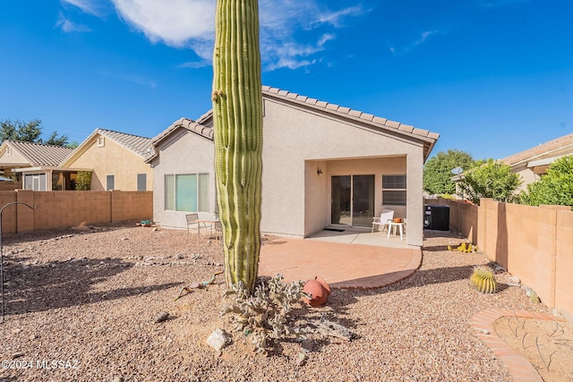
<svg viewBox="0 0 573 382"><path fill-rule="evenodd" d="M229 322L235 331L250 339L255 352L267 352L270 341L288 336L304 337L310 327L291 327L289 312L303 297L304 283L300 280L285 284L283 276L277 275L261 281L250 294L242 282L232 285L225 293L231 301L221 310L221 316L230 314Z"/></svg>

